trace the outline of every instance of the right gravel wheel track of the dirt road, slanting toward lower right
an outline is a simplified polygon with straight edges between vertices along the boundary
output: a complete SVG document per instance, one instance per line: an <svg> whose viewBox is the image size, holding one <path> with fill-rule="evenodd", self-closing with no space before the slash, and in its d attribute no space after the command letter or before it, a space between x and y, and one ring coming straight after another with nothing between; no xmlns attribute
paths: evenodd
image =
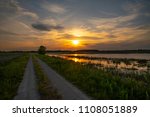
<svg viewBox="0 0 150 117"><path fill-rule="evenodd" d="M62 76L52 70L46 63L38 59L44 73L48 76L53 86L62 95L64 100L88 100L89 98L75 86L66 81Z"/></svg>

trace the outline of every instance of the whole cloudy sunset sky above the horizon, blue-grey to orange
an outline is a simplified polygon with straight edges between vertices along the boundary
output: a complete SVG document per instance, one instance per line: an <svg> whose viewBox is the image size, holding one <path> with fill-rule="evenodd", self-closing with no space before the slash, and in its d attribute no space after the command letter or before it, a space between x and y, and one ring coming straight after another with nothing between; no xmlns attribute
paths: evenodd
<svg viewBox="0 0 150 117"><path fill-rule="evenodd" d="M150 49L150 0L0 0L0 50L40 45Z"/></svg>

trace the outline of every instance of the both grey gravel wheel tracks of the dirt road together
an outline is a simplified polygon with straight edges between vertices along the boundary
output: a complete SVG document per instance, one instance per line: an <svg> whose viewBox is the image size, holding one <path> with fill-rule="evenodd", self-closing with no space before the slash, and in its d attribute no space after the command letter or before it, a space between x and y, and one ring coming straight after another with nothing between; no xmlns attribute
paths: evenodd
<svg viewBox="0 0 150 117"><path fill-rule="evenodd" d="M43 72L47 75L51 84L58 90L64 100L88 100L83 92L66 81L62 76L52 70L46 63L38 59L38 62L43 69ZM23 80L19 86L18 93L15 96L15 100L39 100L40 96L37 90L36 76L32 63L32 57L30 57L25 69Z"/></svg>

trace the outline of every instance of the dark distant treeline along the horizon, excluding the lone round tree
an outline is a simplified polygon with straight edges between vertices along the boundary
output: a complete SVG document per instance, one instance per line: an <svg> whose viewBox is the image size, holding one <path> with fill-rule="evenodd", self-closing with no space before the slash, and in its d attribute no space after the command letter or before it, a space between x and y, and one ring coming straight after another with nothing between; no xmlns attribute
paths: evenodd
<svg viewBox="0 0 150 117"><path fill-rule="evenodd" d="M0 53L37 53L37 51L0 51ZM136 54L147 53L150 54L150 50L47 50L47 53L67 53L67 54Z"/></svg>

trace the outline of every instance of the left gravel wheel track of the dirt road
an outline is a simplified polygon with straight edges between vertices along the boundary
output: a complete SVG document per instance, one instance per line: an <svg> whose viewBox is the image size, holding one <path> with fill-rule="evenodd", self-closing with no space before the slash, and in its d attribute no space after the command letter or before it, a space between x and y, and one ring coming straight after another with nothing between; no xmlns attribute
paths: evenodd
<svg viewBox="0 0 150 117"><path fill-rule="evenodd" d="M30 57L25 69L23 80L19 86L15 100L38 100L40 96L36 88L36 77L34 73L32 57Z"/></svg>

